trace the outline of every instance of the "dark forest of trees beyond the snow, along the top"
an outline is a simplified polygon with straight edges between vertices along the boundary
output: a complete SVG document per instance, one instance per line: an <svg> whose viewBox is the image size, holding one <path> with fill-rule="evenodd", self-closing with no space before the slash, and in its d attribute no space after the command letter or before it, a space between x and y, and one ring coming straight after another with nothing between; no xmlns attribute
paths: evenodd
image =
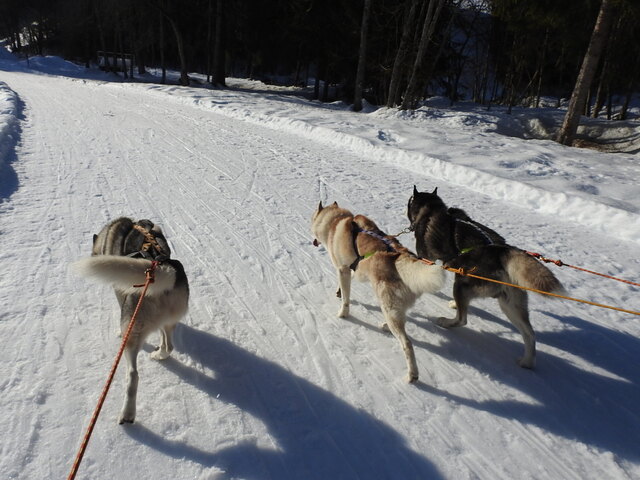
<svg viewBox="0 0 640 480"><path fill-rule="evenodd" d="M624 117L640 76L640 2L612 1L615 19L585 113ZM296 85L312 79L324 101L362 95L414 108L445 95L536 106L543 97L571 95L601 3L0 0L0 38L23 55L86 65L99 51L132 55L122 75L175 69L184 85L188 72L199 72L219 86L225 76Z"/></svg>

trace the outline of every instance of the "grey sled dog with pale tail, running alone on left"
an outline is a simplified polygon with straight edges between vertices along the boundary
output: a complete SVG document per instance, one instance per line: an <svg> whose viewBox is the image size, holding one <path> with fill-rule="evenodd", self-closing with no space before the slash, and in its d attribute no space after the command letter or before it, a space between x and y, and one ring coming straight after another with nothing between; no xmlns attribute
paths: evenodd
<svg viewBox="0 0 640 480"><path fill-rule="evenodd" d="M159 262L125 347L128 362L124 403L118 422L133 423L138 391L138 352L147 336L160 330L160 345L151 357L164 360L173 350L172 334L186 314L189 284L182 264L170 257L162 230L150 220L118 218L93 236L91 257L75 262L81 275L113 285L120 305L120 329L127 330L145 283L145 271Z"/></svg>

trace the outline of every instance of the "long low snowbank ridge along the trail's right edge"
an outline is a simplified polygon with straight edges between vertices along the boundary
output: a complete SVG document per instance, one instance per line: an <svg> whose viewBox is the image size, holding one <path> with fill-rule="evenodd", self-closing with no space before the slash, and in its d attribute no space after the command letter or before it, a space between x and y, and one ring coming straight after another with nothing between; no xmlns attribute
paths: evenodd
<svg viewBox="0 0 640 480"><path fill-rule="evenodd" d="M287 105L286 102L283 102L286 105L285 107L256 109L252 108L249 99L245 99L244 102L238 101L239 98L234 98L234 101L229 102L222 101L221 92L211 95L203 94L202 90L159 85L144 85L141 88L147 90L150 94L164 98L169 97L182 104L214 110L216 113L226 117L266 126L278 131L294 133L327 146L348 149L365 158L386 162L390 166L401 167L420 175L426 174L436 180L483 192L492 198L503 200L528 210L565 218L567 221L593 228L600 233L610 235L615 232L618 238L640 242L640 215L634 211L634 207L630 207L629 210L632 211L628 211L625 208L621 208L623 205L603 204L601 196L594 196L591 199L589 195L582 197L575 195L572 191L549 191L545 188L546 185L538 187L527 182L505 178L495 169L491 171L490 169L480 168L480 165L479 168L473 168L468 164L441 160L425 153L424 146L418 147L423 151L406 148L403 142L394 141L393 136L390 136L384 130L378 130L377 138L374 139L358 126L350 126L346 122L338 122L341 130L337 130L335 124L331 124L323 117L322 112L330 110L330 115L335 116L339 111L345 110L344 104L322 107L311 105L315 108L314 112L305 116L304 110L309 109L309 104L312 102L302 99L289 100L289 103L293 102L299 107L297 115L294 116L291 115L291 105ZM343 113L350 114L348 111ZM421 117L425 115L430 120L438 117L438 114L434 114L434 112L402 112L396 109L379 109L370 115L377 119L395 117L401 119L405 124L409 124L409 126L411 126L412 122L420 123L424 121L425 119ZM450 115L449 118L436 118L436 120L444 124L445 128L449 125L451 128L464 129L466 127L475 131L484 129L488 132L500 130L500 121L505 117L509 121L513 118L510 115L478 112L468 114L463 112L459 115ZM358 122L355 118L350 120L354 123ZM524 132L522 125L523 123L521 123L521 128L522 132ZM402 134L399 138L402 138ZM452 148L454 147L452 146ZM554 144L553 148L564 147ZM520 155L523 154L520 153ZM500 169L519 170L522 165L530 160L528 156L519 158L518 155L514 155L513 158L516 159L513 167L503 164L500 165ZM527 176L552 178L554 174L553 172L544 171L540 175L539 172L527 171ZM576 190L582 189L584 192L589 193L589 188L591 188L590 185L578 185Z"/></svg>

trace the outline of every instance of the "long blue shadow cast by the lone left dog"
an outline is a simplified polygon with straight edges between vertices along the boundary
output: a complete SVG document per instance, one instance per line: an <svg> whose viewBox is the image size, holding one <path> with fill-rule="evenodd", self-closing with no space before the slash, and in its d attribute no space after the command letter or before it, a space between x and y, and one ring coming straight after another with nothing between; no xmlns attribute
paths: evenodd
<svg viewBox="0 0 640 480"><path fill-rule="evenodd" d="M126 429L136 441L174 458L220 468L224 478L443 478L389 425L282 366L184 324L176 329L176 341L189 345L189 357L214 371L215 378L172 358L163 365L184 382L260 419L278 448L242 442L205 451L137 424Z"/></svg>

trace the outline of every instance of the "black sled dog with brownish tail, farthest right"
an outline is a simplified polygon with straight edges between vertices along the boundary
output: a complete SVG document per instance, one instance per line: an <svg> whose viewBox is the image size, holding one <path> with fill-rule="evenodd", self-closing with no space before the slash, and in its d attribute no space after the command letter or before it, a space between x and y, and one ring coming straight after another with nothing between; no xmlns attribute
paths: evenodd
<svg viewBox="0 0 640 480"><path fill-rule="evenodd" d="M416 251L422 258L442 260L446 267L474 268L474 274L550 293L564 288L551 271L519 248L507 245L490 228L478 223L458 208L447 208L433 192L419 192L413 187L407 215L416 238ZM525 290L456 274L453 299L457 307L454 318L439 318L446 328L467 323L469 303L474 298L494 297L524 341L521 367L535 366L535 334L529 322L528 297Z"/></svg>

